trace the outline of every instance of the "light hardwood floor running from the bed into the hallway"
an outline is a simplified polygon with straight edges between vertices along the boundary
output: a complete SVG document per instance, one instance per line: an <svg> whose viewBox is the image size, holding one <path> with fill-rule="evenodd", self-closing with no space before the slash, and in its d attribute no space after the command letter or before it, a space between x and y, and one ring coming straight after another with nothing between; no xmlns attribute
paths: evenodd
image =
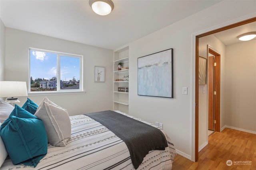
<svg viewBox="0 0 256 170"><path fill-rule="evenodd" d="M232 160L231 166L227 166L227 160ZM177 154L172 170L256 170L256 135L228 128L214 132L197 162Z"/></svg>

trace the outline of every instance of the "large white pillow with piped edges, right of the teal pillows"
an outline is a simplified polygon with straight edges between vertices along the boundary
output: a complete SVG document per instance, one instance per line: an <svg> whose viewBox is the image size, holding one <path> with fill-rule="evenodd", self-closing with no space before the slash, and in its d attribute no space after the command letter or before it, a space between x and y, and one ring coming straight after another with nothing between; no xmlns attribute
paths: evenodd
<svg viewBox="0 0 256 170"><path fill-rule="evenodd" d="M65 147L71 136L68 111L45 97L34 115L44 122L48 143L57 147Z"/></svg>

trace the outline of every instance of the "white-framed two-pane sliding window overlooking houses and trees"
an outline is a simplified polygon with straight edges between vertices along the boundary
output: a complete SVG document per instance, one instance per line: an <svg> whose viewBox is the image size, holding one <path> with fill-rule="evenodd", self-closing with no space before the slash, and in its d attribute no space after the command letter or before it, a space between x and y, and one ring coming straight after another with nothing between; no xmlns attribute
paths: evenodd
<svg viewBox="0 0 256 170"><path fill-rule="evenodd" d="M29 49L29 92L82 91L82 55Z"/></svg>

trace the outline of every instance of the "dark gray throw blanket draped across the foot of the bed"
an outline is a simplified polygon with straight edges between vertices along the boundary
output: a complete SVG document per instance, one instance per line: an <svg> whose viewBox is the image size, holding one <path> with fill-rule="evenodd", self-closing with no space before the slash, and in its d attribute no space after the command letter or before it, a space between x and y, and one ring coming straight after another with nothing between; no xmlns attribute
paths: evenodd
<svg viewBox="0 0 256 170"><path fill-rule="evenodd" d="M106 126L127 145L135 169L150 150L164 150L168 146L164 134L157 128L115 111L85 114Z"/></svg>

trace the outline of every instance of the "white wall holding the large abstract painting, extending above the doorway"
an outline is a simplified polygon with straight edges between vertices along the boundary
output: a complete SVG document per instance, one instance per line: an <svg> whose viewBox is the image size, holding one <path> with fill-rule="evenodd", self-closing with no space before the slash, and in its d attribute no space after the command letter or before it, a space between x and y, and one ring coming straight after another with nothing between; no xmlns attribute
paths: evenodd
<svg viewBox="0 0 256 170"><path fill-rule="evenodd" d="M192 34L251 14L255 5L256 1L222 1L129 44L129 114L162 122L178 153L189 159L194 159ZM169 48L174 49L174 98L138 96L138 57ZM188 87L188 95L182 95L182 87Z"/></svg>

